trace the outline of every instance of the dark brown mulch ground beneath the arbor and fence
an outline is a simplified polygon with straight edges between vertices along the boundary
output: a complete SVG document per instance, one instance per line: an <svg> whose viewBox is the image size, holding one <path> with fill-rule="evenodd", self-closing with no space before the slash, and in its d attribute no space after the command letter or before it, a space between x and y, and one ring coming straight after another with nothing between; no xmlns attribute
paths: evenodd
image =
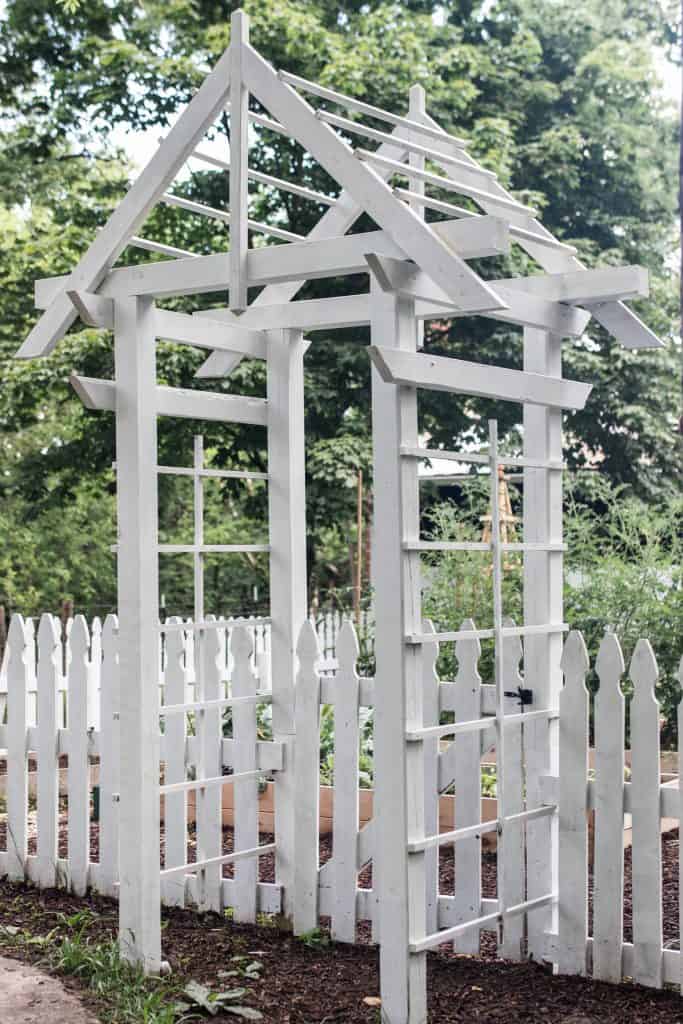
<svg viewBox="0 0 683 1024"><path fill-rule="evenodd" d="M231 847L231 835L224 847ZM92 836L96 858L96 830ZM266 837L262 837L262 842ZM330 845L322 844L321 859L330 855ZM625 931L631 939L631 863L626 856ZM678 834L663 839L665 942L678 948ZM262 858L261 878L272 879L271 858ZM483 889L496 892L496 859L485 855L482 863ZM225 873L228 873L226 869ZM452 892L452 853L441 860L440 886ZM370 871L361 884L370 883ZM46 934L58 921L58 913L74 913L88 906L98 914L89 932L93 940L116 934L116 903L99 897L77 899L59 891L40 893L28 886L0 882L0 925L26 928L32 934ZM210 986L224 987L218 972L232 966L233 956L254 956L263 964L260 980L250 983L245 998L259 1009L264 1022L272 1024L377 1024L379 978L377 950L368 942L369 929L358 929L355 946L336 945L328 937L295 939L276 921L262 927L238 926L225 916L200 916L191 910L164 913L164 955L176 976L193 978ZM30 947L4 950L30 961ZM674 991L652 991L631 984L620 986L580 978L553 977L548 968L531 964L511 964L496 958L493 935L482 936L481 954L459 956L439 949L428 956L430 1024L450 1022L503 1022L506 1024L683 1024L683 1000ZM89 1004L91 1005L91 1004ZM36 1017L36 1021L38 1021ZM71 1020L62 1017L62 1020ZM219 1015L217 1022L234 1022ZM40 1017L40 1024L45 1018ZM0 1024L4 1024L0 1016ZM14 1021L12 1020L12 1024ZM31 1024L34 1024L31 1021Z"/></svg>

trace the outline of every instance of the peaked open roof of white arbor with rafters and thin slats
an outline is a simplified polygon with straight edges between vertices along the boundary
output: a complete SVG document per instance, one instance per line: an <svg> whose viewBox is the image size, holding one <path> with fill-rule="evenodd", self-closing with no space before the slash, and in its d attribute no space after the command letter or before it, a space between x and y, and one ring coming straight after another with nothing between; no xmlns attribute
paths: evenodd
<svg viewBox="0 0 683 1024"><path fill-rule="evenodd" d="M417 264L426 274L439 296L452 302L460 314L486 313L505 319L510 307L509 288L499 290L496 282L486 282L449 244L449 238L433 223L427 223L422 208L440 210L459 218L476 217L471 207L463 208L453 203L425 196L425 185L450 188L476 203L484 214L505 220L510 237L543 267L544 281L557 279L551 287L551 301L581 304L588 309L624 345L632 348L656 347L660 342L655 335L620 301L617 293L606 298L596 292L572 299L571 289L563 292L564 278L588 274L575 256L575 250L555 239L536 218L535 211L518 202L467 152L463 139L443 131L424 111L424 103L412 104L411 117L405 118L387 111L380 111L368 103L344 96L332 89L307 82L286 72L275 71L249 43L246 16L237 11L232 15L231 42L214 70L188 103L170 130L146 167L139 174L127 195L112 213L106 224L82 256L78 265L65 279L47 283L49 300L42 315L17 351L22 358L46 355L69 330L82 311L74 296L79 293L106 291L110 271L128 245L151 248L169 255L182 257L194 254L171 250L136 237L136 231L159 202L174 203L194 212L208 213L230 223L230 253L227 256L229 273L230 307L233 312L248 308L245 325L257 314L259 307L289 302L305 282L305 275L293 281L267 284L259 297L247 306L249 254L248 230L261 230L285 240L295 239L292 232L279 227L269 228L249 220L247 210L247 180L256 177L248 167L248 128L254 122L271 131L288 135L300 143L328 172L339 187L340 194L318 197L329 209L321 217L305 240L297 241L297 249L305 242L339 239L345 234L361 213L369 214L394 250ZM230 96L231 92L231 96ZM323 100L346 108L353 114L384 121L387 132L358 121L351 121L327 110L315 110L302 93L313 94ZM249 96L253 95L268 112L268 116L249 111ZM230 162L220 166L230 170L229 213L210 210L201 204L169 196L167 188L183 164L197 154L198 143L212 127L215 119L230 102ZM356 146L342 138L336 129L346 135L360 135L380 142L374 152ZM211 159L211 158L205 158ZM442 169L442 174L426 171L425 160ZM405 161L410 163L407 164ZM396 174L408 177L408 189L392 187L390 179ZM279 179L260 175L266 182ZM280 186L317 194L297 186L293 182L280 182ZM276 185L278 186L278 185ZM486 218L490 220L490 217ZM280 249L280 247L278 247ZM259 250L262 252L262 250ZM396 255L395 252L388 255ZM205 260L214 257L205 257ZM185 262L188 262L187 260ZM193 261L194 262L194 261ZM214 265L212 264L212 265ZM198 266L198 270L199 270ZM347 272L355 272L355 267ZM115 271L121 274L123 271ZM343 270L340 272L344 272ZM541 278L514 279L506 282L532 294ZM546 286L547 287L547 286ZM185 289L187 290L187 289ZM202 287L194 291L206 290ZM131 286L134 293L134 287ZM575 291L575 289L574 289ZM579 289L581 292L581 289ZM624 293L627 294L627 293ZM632 293L628 293L632 294ZM633 294L646 294L642 289ZM530 301L530 300L529 300ZM229 313L228 313L229 315ZM513 323L518 323L511 315ZM256 321L254 321L256 326ZM239 354L237 358L239 358ZM229 372L236 356L226 351L214 351L200 369L200 376L219 376Z"/></svg>

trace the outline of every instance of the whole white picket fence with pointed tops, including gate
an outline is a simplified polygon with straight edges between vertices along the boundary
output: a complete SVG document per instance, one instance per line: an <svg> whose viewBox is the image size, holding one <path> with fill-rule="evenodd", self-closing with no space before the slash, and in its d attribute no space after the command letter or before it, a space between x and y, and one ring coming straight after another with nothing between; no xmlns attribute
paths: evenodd
<svg viewBox="0 0 683 1024"><path fill-rule="evenodd" d="M258 624L209 629L197 646L189 624L167 625L160 656L161 759L165 799L165 853L162 894L168 905L190 903L202 909L231 906L241 921L254 921L257 910L278 912L283 906L280 885L258 880L257 858L223 853L221 775L225 768L240 774L234 786L236 851L259 845L259 778L283 767L281 745L257 735L257 712L267 721L270 666L267 633ZM426 624L425 629L431 632ZM473 630L466 622L463 630ZM6 849L0 852L0 872L29 878L41 887L63 885L77 894L88 887L117 894L118 881L118 652L117 620L110 615L101 630L88 630L77 616L65 652L57 623L43 615L37 633L14 615L8 638L7 721L0 726L0 749L7 752ZM515 692L523 681L522 644L505 641L505 688ZM438 644L423 644L424 724L437 725L442 716L471 722L495 711L495 688L481 681L480 644L460 639L458 672L441 681L436 674ZM336 638L336 670L324 674L317 632L308 622L299 645L296 692L295 872L294 915L299 931L330 919L335 939L353 942L360 921L373 923L377 938L376 893L360 888L359 872L373 859L374 820L359 825L360 733L375 702L372 678L356 671L358 642L350 623ZM197 669L200 681L197 681ZM617 981L629 975L660 987L679 983L681 955L664 948L661 904L660 818L679 819L681 796L659 776L659 709L654 697L657 678L654 654L641 640L630 667L631 777L625 781L625 697L620 688L624 662L616 638L607 634L596 660L599 689L594 700L595 777L589 779L589 708L585 680L589 660L583 639L570 634L564 646L565 685L559 708L558 776L544 779L543 803L557 805L559 821L558 924L547 934L547 958L565 973L592 973ZM683 681L683 666L682 666ZM202 715L173 707L194 699L216 700ZM333 855L321 865L319 721L321 708L334 714ZM232 734L223 734L223 712L231 708ZM519 705L509 698L506 714ZM683 711L681 712L683 717ZM506 811L524 810L523 725L511 723L506 733ZM457 828L482 820L480 764L495 745L492 727L464 732L455 741L425 744L425 831L439 830L439 795L455 788ZM69 757L67 771L68 856L57 855L59 821L58 759ZM28 811L29 758L37 761L37 802ZM99 860L90 859L90 801L93 761L98 761L100 787ZM199 788L193 776L215 780ZM187 863L187 795L197 792L197 859L209 863L197 870ZM589 814L594 812L594 926L589 935ZM623 936L624 822L633 827L633 942ZM37 850L29 855L29 824L37 833ZM483 831L483 829L482 829ZM275 839L276 842L276 839ZM499 838L498 893L507 906L525 898L525 834L512 824ZM438 885L438 849L428 849L427 927L452 928L494 914L498 898L482 895L481 835L461 838L456 845L457 883L444 893ZM272 852L269 843L261 850ZM224 878L223 862L234 861L233 878ZM683 871L683 865L681 870ZM682 889L683 891L683 889ZM497 923L482 931L497 929ZM506 921L498 934L499 951L509 958L523 955L523 918ZM457 939L460 952L477 952L479 935L470 930Z"/></svg>

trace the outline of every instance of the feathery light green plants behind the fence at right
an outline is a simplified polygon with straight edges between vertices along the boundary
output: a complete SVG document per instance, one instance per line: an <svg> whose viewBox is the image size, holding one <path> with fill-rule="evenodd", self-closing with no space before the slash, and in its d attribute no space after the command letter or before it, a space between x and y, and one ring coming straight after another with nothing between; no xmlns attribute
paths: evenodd
<svg viewBox="0 0 683 1024"><path fill-rule="evenodd" d="M441 540L479 540L480 516L488 508L487 487L467 485L462 508L443 503L432 511L433 536ZM514 508L514 503L513 503ZM640 637L647 637L659 666L658 697L666 720L664 740L673 741L680 687L676 681L683 638L683 498L671 496L652 507L615 486L601 474L582 473L568 487L564 536L565 622L583 632L595 659L605 629L622 643L627 666ZM479 525L477 526L477 524ZM473 618L492 625L490 556L446 552L429 556L424 609L437 630L457 630ZM503 607L521 622L521 567L504 573ZM479 671L493 679L493 644L482 641ZM441 678L457 671L454 645L441 645ZM593 685L596 680L592 679ZM628 679L625 692L630 692Z"/></svg>

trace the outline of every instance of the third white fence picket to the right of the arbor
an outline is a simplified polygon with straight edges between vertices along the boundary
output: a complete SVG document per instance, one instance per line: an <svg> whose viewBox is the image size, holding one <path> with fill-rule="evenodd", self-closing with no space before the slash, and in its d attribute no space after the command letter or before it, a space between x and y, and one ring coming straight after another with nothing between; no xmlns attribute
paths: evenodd
<svg viewBox="0 0 683 1024"><path fill-rule="evenodd" d="M631 658L631 814L633 979L661 987L661 842L659 808L658 670L648 640Z"/></svg>

